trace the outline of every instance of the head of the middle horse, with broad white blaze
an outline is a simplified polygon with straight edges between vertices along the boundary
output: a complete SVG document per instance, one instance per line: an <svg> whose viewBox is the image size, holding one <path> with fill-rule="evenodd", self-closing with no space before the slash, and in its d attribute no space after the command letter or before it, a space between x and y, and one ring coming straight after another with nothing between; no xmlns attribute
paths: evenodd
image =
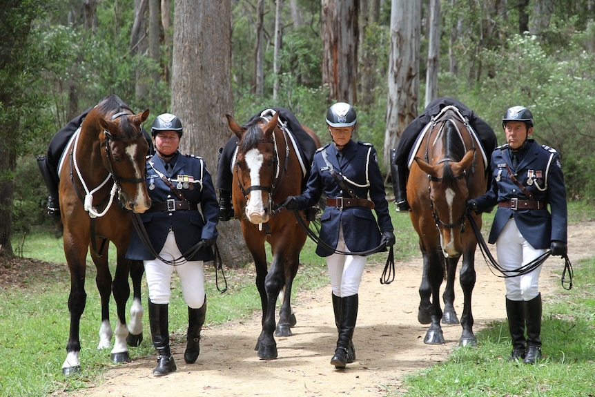
<svg viewBox="0 0 595 397"><path fill-rule="evenodd" d="M245 206L246 217L253 224L269 222L271 194L279 171L274 136L278 113L269 122L258 117L245 126L238 125L230 115L226 117L229 128L240 141L235 155L234 178L244 201L234 197L233 205L236 209Z"/></svg>

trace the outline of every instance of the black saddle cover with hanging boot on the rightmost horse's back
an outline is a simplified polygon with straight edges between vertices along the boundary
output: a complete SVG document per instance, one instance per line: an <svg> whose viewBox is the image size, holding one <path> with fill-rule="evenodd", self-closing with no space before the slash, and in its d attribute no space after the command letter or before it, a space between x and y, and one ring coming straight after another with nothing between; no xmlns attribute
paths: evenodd
<svg viewBox="0 0 595 397"><path fill-rule="evenodd" d="M396 149L391 153L391 177L393 182L393 192L395 193L395 203L397 204L397 211L407 212L409 211L409 203L407 202L407 160L409 152L416 143L416 139L424 129L424 127L431 121L432 117L438 115L440 111L446 106L456 106L460 114L467 117L469 124L477 133L478 138L481 141L485 155L489 160L491 152L494 151L498 140L494 130L491 129L489 124L484 122L473 110L467 108L464 104L456 99L449 97L442 97L434 99L428 106L426 106L424 112L413 119L405 129L403 130L399 143Z"/></svg>

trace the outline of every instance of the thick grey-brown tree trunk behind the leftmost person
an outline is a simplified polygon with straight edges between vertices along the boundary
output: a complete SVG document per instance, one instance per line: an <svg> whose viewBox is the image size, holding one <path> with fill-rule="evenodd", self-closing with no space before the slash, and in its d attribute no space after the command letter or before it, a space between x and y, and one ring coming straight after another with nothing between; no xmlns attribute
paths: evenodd
<svg viewBox="0 0 595 397"><path fill-rule="evenodd" d="M215 67L216 66L216 67ZM230 136L231 0L175 0L171 112L184 123L182 151L205 159L216 176ZM222 222L218 246L227 266L251 262L237 221Z"/></svg>

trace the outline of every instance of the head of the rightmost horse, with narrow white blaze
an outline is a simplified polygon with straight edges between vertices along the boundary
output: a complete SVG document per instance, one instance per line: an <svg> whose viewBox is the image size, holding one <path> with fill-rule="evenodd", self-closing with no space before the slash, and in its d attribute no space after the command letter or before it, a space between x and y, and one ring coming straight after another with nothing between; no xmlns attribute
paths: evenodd
<svg viewBox="0 0 595 397"><path fill-rule="evenodd" d="M446 258L458 258L462 254L461 233L465 227L465 202L469 199L465 170L474 162L474 157L475 149L471 149L459 162L448 157L436 164L429 164L420 157L415 159L429 178L430 207Z"/></svg>

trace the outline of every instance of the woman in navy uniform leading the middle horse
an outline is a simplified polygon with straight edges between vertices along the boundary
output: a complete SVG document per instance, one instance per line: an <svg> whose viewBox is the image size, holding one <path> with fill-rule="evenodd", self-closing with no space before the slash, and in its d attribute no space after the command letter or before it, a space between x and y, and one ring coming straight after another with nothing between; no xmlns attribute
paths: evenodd
<svg viewBox="0 0 595 397"><path fill-rule="evenodd" d="M327 197L321 217L320 240L331 248L319 243L316 253L326 257L331 278L338 330L331 365L338 368L355 360L352 338L358 316L358 289L367 257L342 255L334 249L364 252L381 242L387 246L395 243L376 151L371 144L351 140L357 120L355 110L349 104L339 102L329 108L326 124L333 143L314 154L306 191L299 196L289 196L284 202L289 210L308 209L323 193Z"/></svg>

